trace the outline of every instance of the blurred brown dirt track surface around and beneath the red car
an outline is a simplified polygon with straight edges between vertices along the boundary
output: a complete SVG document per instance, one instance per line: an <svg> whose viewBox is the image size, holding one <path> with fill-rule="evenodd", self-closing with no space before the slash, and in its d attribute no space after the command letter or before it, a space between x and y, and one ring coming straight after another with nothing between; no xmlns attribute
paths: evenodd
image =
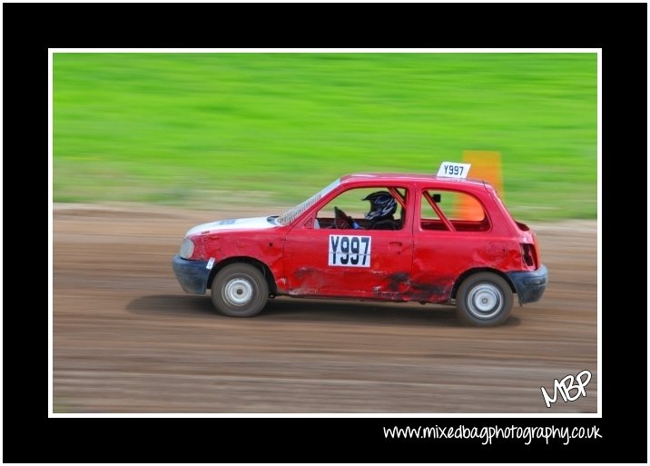
<svg viewBox="0 0 650 466"><path fill-rule="evenodd" d="M550 283L497 328L291 298L234 319L182 292L190 227L263 213L55 205L54 412L596 412L596 222L530 223ZM540 387L584 370L586 397L547 409Z"/></svg>

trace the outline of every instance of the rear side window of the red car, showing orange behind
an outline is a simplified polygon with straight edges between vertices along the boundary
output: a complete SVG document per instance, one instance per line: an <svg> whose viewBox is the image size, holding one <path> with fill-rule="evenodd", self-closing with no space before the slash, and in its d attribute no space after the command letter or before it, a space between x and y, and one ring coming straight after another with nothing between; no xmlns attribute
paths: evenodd
<svg viewBox="0 0 650 466"><path fill-rule="evenodd" d="M487 232L488 215L483 204L468 193L428 189L420 199L422 230Z"/></svg>

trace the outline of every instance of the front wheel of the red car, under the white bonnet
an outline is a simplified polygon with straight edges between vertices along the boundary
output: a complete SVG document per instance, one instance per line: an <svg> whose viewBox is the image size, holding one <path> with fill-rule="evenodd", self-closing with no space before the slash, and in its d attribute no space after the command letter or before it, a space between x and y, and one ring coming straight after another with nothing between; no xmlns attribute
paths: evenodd
<svg viewBox="0 0 650 466"><path fill-rule="evenodd" d="M223 267L212 281L212 303L217 311L231 317L252 317L269 299L269 284L260 269L248 263Z"/></svg>

